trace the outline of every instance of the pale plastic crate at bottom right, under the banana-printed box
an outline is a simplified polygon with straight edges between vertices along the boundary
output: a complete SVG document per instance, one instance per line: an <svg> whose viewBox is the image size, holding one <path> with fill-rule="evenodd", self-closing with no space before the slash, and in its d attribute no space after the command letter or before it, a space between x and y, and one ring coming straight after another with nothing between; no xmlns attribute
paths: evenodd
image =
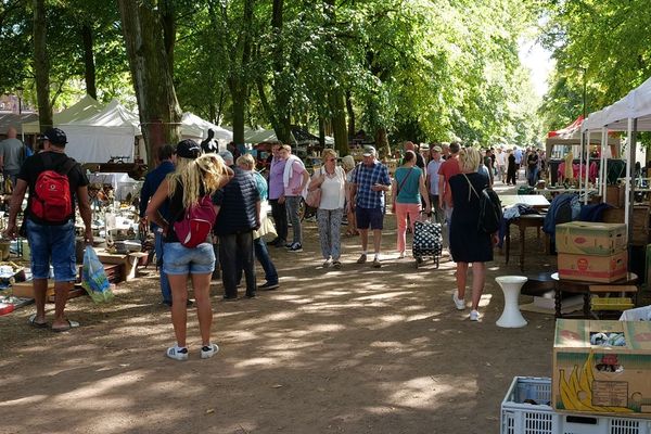
<svg viewBox="0 0 651 434"><path fill-rule="evenodd" d="M559 413L550 400L551 379L515 376L501 404L500 433L651 434L651 420Z"/></svg>

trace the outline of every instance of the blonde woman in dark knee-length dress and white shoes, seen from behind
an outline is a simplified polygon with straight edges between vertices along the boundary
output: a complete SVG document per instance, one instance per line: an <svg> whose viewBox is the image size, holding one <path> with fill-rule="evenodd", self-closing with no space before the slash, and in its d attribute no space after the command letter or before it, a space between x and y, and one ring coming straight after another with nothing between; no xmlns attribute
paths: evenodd
<svg viewBox="0 0 651 434"><path fill-rule="evenodd" d="M493 260L493 244L497 240L495 234L484 233L478 229L480 193L488 187L488 177L477 173L481 159L477 150L473 148L461 150L459 152L461 174L450 178L455 205L450 224L450 253L452 260L457 263L457 291L452 294L452 299L457 309L465 308L468 265L472 264L471 321L480 319L477 307L486 279L485 263Z"/></svg>

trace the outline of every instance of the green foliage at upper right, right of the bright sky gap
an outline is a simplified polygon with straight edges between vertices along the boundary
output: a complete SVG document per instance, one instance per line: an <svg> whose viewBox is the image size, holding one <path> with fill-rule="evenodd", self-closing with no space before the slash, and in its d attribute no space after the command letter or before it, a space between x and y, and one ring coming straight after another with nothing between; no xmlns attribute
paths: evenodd
<svg viewBox="0 0 651 434"><path fill-rule="evenodd" d="M623 98L651 75L651 8L647 0L547 0L544 43L557 69L542 105L556 129Z"/></svg>

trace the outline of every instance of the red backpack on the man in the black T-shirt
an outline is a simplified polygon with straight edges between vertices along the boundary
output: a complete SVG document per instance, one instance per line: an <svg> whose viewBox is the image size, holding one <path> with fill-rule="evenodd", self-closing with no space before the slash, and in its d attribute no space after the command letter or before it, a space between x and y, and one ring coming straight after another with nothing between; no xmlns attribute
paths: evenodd
<svg viewBox="0 0 651 434"><path fill-rule="evenodd" d="M51 157L43 155L46 167L52 163ZM48 164L49 163L49 164ZM60 166L59 169L43 170L36 178L34 194L30 197L31 214L48 222L62 222L73 214L73 197L67 174L77 162L73 158Z"/></svg>

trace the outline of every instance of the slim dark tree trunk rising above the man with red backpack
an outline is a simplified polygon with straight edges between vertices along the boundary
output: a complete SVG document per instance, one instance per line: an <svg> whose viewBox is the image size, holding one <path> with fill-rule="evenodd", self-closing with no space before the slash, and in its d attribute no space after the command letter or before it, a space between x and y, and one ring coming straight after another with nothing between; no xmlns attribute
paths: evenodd
<svg viewBox="0 0 651 434"><path fill-rule="evenodd" d="M40 130L52 127L50 103L50 61L47 48L46 1L34 0L34 73Z"/></svg>

